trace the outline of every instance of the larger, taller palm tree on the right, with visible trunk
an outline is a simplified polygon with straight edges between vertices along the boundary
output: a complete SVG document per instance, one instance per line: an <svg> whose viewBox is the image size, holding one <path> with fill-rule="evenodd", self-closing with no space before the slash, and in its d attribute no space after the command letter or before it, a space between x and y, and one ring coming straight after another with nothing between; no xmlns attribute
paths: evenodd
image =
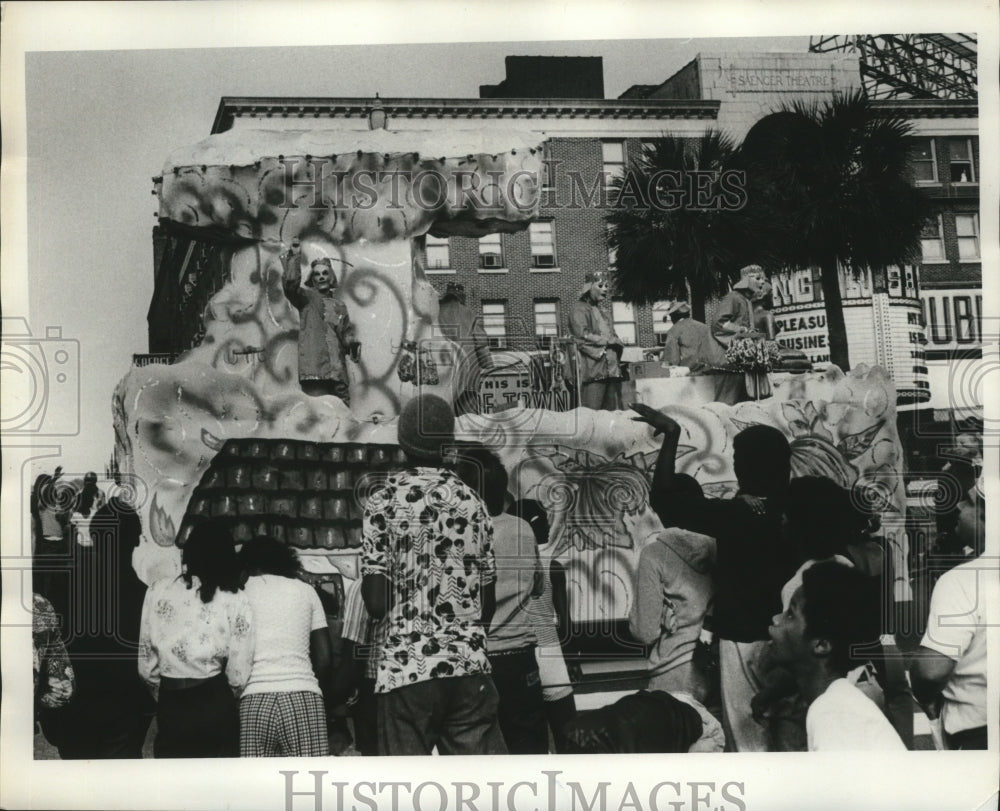
<svg viewBox="0 0 1000 811"><path fill-rule="evenodd" d="M919 255L929 198L913 184L911 133L862 91L766 116L740 147L743 212L762 264L818 266L830 360L850 368L839 268L884 273Z"/></svg>

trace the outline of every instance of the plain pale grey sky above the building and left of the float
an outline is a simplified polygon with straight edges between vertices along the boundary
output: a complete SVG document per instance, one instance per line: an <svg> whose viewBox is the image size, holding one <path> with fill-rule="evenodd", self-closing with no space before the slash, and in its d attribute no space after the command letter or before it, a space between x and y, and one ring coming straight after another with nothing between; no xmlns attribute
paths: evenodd
<svg viewBox="0 0 1000 811"><path fill-rule="evenodd" d="M476 98L504 78L505 56L527 54L601 56L615 98L701 51L807 48L782 37L28 53L30 327L79 342L81 434L62 442L64 468L100 472L111 454L112 391L148 349L151 178L209 135L221 97Z"/></svg>

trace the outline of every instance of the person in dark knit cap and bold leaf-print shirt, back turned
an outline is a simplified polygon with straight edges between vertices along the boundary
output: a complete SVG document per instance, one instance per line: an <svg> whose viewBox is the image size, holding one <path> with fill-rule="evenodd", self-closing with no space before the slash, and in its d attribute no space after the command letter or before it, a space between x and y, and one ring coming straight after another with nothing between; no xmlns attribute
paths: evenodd
<svg viewBox="0 0 1000 811"><path fill-rule="evenodd" d="M378 658L382 755L505 754L486 658L496 606L493 524L452 471L455 414L433 394L399 415L410 463L372 494L362 520L361 593L385 621Z"/></svg>

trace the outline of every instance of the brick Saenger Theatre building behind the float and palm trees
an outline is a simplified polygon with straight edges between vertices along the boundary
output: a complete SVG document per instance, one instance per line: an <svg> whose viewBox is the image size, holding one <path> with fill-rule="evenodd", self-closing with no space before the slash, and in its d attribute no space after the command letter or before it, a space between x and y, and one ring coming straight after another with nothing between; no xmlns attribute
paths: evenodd
<svg viewBox="0 0 1000 811"><path fill-rule="evenodd" d="M546 141L550 169L537 222L480 239L431 234L418 246L431 281L441 290L448 281L464 284L493 343L519 349L565 335L584 275L613 267L605 241L605 179L622 172L644 142L664 134L693 138L709 128L739 138L783 102L822 101L860 84L856 57L843 54L701 54L662 84L635 85L617 99L603 98L599 58L508 57L506 69L502 82L480 88L479 99L381 104L391 130L515 127ZM845 279L845 317L852 361L889 367L907 390L903 401L919 404L929 396L928 369L933 373L937 364L940 373L956 352L975 350L981 341L978 109L961 100L878 104L912 121L917 177L939 213L925 230L919 267L890 269L884 285L862 279L852 287ZM226 97L212 132L365 131L372 107L368 98ZM221 284L225 263L183 240L154 237L154 246L149 350L177 352L198 339L192 311ZM178 264L201 270L186 277L183 267L174 272ZM167 265L169 274L162 271ZM776 297L776 314L787 341L822 349L815 273L806 269L779 280L784 297ZM611 315L626 343L648 347L662 342L669 328L665 306L614 301ZM712 310L709 303L709 318ZM821 351L811 354L824 359Z"/></svg>

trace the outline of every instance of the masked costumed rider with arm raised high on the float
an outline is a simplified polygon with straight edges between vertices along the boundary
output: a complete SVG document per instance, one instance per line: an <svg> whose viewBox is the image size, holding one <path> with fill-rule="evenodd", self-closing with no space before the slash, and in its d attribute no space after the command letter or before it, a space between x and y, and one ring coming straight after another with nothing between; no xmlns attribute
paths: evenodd
<svg viewBox="0 0 1000 811"><path fill-rule="evenodd" d="M344 356L361 359L361 344L347 307L334 295L337 277L329 257L314 259L310 275L302 281L302 255L298 242L282 254L285 297L299 311L299 384L313 397L332 394L351 404Z"/></svg>

